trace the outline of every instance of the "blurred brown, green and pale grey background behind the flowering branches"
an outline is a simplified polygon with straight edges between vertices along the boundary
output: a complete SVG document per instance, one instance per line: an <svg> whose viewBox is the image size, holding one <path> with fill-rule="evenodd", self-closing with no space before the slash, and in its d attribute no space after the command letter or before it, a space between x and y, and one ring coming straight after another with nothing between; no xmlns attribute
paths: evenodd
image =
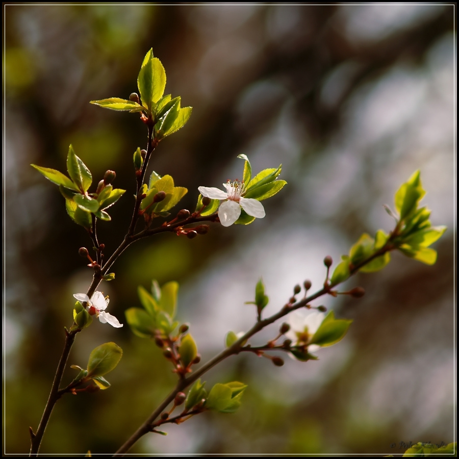
<svg viewBox="0 0 459 459"><path fill-rule="evenodd" d="M288 185L264 201L249 226L211 226L193 240L143 240L114 266L110 313L139 306L137 286L181 284L179 319L191 323L203 360L228 330L247 330L260 277L267 314L311 279L319 289L324 256L335 261L363 232L388 231L399 185L421 169L424 205L448 225L426 266L394 254L375 274L350 279L362 299L324 298L353 319L345 339L317 362L240 355L210 372L207 386L248 384L234 415L203 414L167 437L146 436L141 454L391 454L400 442L449 443L454 431L455 29L453 5L5 5L4 47L4 448L29 452L71 325L73 293L91 271L90 247L66 215L57 187L31 163L65 171L73 144L93 173L117 173L127 192L100 222L111 253L131 218L132 155L146 147L138 115L89 104L137 91L152 47L167 73L166 94L193 113L161 142L152 168L189 192L283 164ZM177 209L179 210L179 209ZM266 331L253 345L277 334ZM124 350L110 390L59 401L41 453L113 453L174 382L160 350L129 326L94 322L69 364L115 341ZM65 374L67 384L75 370ZM395 445L395 446L394 446Z"/></svg>

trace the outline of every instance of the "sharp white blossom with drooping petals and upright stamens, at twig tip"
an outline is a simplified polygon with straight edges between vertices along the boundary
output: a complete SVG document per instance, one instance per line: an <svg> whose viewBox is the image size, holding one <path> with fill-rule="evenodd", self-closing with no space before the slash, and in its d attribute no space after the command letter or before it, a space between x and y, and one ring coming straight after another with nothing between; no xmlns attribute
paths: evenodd
<svg viewBox="0 0 459 459"><path fill-rule="evenodd" d="M218 209L218 218L223 226L232 225L241 215L241 209L251 217L263 218L265 216L265 209L260 201L243 197L245 193L244 184L239 180L234 182L228 180L223 186L226 191L213 187L198 188L202 196L224 201Z"/></svg>

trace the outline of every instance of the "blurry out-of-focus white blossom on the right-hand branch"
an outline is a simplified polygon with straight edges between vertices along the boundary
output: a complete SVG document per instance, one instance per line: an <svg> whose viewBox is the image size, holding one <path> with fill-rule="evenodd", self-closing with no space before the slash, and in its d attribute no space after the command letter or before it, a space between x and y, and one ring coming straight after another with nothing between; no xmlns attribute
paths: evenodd
<svg viewBox="0 0 459 459"><path fill-rule="evenodd" d="M308 346L308 352L320 349L317 344L311 344L312 337L325 319L325 314L318 311L294 311L289 315L287 323L290 330L285 336L292 340L294 346Z"/></svg>

